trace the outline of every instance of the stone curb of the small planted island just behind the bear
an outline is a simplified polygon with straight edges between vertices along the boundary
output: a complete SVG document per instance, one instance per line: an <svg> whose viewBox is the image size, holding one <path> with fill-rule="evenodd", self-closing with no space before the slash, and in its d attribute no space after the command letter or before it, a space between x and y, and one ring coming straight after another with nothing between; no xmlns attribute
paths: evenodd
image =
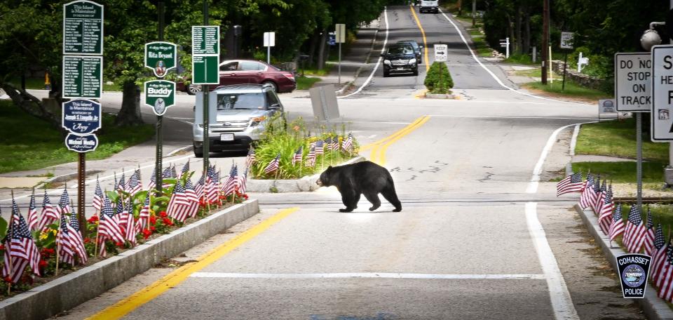
<svg viewBox="0 0 673 320"><path fill-rule="evenodd" d="M339 166L344 166L346 164L355 164L356 162L365 161L364 156L356 156L353 159L350 159ZM274 193L285 193L285 192L311 192L315 191L320 186L315 184L315 180L318 180L320 173L315 173L314 175L306 175L301 179L287 179L287 180L261 180L261 179L250 179L247 180L245 185L246 192L274 192ZM273 189L275 191L271 191Z"/></svg>

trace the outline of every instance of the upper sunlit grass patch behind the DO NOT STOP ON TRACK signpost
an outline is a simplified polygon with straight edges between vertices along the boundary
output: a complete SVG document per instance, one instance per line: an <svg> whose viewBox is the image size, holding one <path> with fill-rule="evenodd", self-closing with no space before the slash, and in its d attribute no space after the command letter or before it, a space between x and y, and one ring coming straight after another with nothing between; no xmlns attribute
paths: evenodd
<svg viewBox="0 0 673 320"><path fill-rule="evenodd" d="M636 159L636 120L604 121L584 124L577 138L576 154L596 154ZM643 137L643 159L666 164L668 143L651 142ZM660 180L662 181L662 180Z"/></svg>

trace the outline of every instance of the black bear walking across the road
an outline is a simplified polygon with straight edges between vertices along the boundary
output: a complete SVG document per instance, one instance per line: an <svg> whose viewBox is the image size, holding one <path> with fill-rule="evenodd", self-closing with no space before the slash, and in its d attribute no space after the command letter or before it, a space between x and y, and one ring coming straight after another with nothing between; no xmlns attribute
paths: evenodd
<svg viewBox="0 0 673 320"><path fill-rule="evenodd" d="M383 194L383 198L386 198L390 204L395 206L394 212L402 211L402 204L395 193L393 177L390 176L386 168L374 164L372 161L356 162L344 166L329 166L315 183L325 187L332 185L337 187L341 193L341 201L346 206L345 209L339 209L341 212L351 212L358 208L360 194L365 194L365 198L372 203L372 208L369 208L369 211L374 211L381 206L379 193Z"/></svg>

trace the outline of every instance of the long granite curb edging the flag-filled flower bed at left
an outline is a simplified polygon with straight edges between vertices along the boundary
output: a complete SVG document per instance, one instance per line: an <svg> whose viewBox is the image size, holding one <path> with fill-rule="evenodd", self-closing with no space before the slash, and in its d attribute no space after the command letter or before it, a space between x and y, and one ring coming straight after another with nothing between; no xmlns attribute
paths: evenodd
<svg viewBox="0 0 673 320"><path fill-rule="evenodd" d="M0 302L0 320L47 319L109 291L132 276L175 257L259 213L259 203L245 201L213 213L170 234L84 267Z"/></svg>

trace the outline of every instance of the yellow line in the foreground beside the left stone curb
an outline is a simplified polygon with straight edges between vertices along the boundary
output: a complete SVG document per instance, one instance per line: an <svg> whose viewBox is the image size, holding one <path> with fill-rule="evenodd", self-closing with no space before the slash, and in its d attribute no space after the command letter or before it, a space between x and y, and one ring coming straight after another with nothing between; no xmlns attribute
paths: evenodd
<svg viewBox="0 0 673 320"><path fill-rule="evenodd" d="M217 248L208 251L204 255L201 255L196 262L187 263L175 271L166 274L163 278L155 281L154 284L151 284L136 293L124 298L123 300L103 309L101 312L90 316L88 319L119 319L122 316L132 312L141 305L153 300L158 297L168 289L177 286L182 281L187 279L190 274L198 272L200 269L207 267L212 264L212 262L217 261L219 258L222 258L227 253L231 252L233 249L238 248L238 246L245 244L250 239L254 238L264 230L268 229L276 222L283 220L291 213L299 210L299 208L289 208L283 211L276 213L271 218L268 218L258 225L247 229L245 232L239 234L235 238L226 241L224 244L219 245Z"/></svg>

